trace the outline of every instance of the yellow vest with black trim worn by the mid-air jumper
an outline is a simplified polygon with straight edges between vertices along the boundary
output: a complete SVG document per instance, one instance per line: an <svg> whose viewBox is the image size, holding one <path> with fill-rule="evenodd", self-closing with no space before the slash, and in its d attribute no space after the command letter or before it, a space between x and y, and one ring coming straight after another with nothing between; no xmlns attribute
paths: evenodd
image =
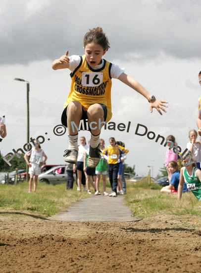
<svg viewBox="0 0 201 273"><path fill-rule="evenodd" d="M112 117L111 112L111 75L112 64L102 59L103 67L93 69L89 66L86 56L80 56L80 64L70 73L72 82L64 108L73 100L79 101L85 110L95 103L107 107L106 122Z"/></svg>

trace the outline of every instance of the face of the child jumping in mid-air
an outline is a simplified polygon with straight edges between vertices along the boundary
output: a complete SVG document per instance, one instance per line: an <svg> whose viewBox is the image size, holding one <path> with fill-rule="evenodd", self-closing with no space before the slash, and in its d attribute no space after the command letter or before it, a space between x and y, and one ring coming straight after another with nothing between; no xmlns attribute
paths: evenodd
<svg viewBox="0 0 201 273"><path fill-rule="evenodd" d="M106 52L99 44L95 44L94 42L87 44L84 50L87 62L92 68L101 64L101 58Z"/></svg>

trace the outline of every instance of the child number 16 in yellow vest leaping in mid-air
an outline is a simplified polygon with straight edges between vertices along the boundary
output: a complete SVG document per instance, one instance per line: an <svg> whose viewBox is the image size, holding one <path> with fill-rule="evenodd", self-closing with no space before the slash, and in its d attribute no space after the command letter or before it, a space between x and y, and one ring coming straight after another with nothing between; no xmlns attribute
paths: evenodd
<svg viewBox="0 0 201 273"><path fill-rule="evenodd" d="M101 127L104 121L108 122L112 117L112 78L119 79L147 98L151 112L152 108L156 108L161 115L161 109L166 112L164 103L167 102L156 99L140 83L125 74L123 69L102 59L109 47L102 28L93 28L84 36L83 56L68 57L67 50L52 63L54 70L69 68L71 71L71 89L61 117L62 124L68 128L69 147L64 154L66 162L77 162L79 124L80 120L84 120L85 128L89 124L91 131L88 166L95 168L98 165Z"/></svg>

